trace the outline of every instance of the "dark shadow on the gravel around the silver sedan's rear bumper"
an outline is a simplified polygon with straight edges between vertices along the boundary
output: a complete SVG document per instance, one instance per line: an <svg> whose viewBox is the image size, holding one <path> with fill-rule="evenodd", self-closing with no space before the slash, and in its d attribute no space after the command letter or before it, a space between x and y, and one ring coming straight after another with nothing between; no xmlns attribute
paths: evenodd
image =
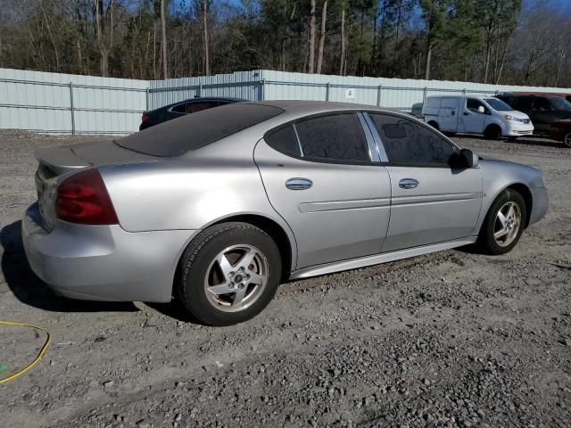
<svg viewBox="0 0 571 428"><path fill-rule="evenodd" d="M29 267L21 241L21 221L0 230L0 244L4 249L1 262L4 280L16 299L26 305L54 312L139 310L132 302L72 300L55 295Z"/></svg>

